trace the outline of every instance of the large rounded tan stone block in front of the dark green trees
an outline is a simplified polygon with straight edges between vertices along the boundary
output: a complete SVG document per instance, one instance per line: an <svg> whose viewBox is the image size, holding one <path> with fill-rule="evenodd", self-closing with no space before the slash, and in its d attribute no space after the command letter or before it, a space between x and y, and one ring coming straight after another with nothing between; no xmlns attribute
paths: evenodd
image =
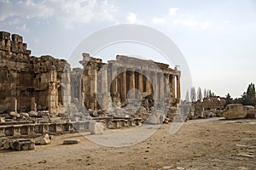
<svg viewBox="0 0 256 170"><path fill-rule="evenodd" d="M245 118L247 116L247 109L241 104L227 105L222 116L226 119Z"/></svg>

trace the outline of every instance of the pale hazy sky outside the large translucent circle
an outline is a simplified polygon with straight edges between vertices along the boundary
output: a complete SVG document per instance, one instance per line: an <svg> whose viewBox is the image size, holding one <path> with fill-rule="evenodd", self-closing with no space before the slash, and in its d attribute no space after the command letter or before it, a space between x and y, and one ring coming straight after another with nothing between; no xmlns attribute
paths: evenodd
<svg viewBox="0 0 256 170"><path fill-rule="evenodd" d="M170 37L187 60L196 89L239 97L256 83L255 0L0 0L0 30L23 36L36 56L68 59L91 33L125 23Z"/></svg>

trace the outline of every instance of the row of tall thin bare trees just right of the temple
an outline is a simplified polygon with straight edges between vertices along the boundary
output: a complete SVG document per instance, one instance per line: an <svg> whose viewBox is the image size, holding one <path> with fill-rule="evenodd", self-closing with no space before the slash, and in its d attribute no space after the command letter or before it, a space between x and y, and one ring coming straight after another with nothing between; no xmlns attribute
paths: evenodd
<svg viewBox="0 0 256 170"><path fill-rule="evenodd" d="M201 101L203 99L203 97L208 98L211 96L215 96L215 94L210 89L205 88L204 93L202 94L200 87L197 88L197 92L195 90L195 87L192 87L192 88L190 88L190 99L189 99L189 90L187 90L185 100L186 100L186 102L189 102L189 101L195 102L198 100Z"/></svg>

